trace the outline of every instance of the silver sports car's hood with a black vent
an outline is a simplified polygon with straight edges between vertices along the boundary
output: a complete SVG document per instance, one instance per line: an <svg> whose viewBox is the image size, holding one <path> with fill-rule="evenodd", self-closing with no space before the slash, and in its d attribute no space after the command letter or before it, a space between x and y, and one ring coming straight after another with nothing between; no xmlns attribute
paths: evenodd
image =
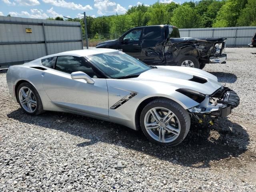
<svg viewBox="0 0 256 192"><path fill-rule="evenodd" d="M193 77L203 78L207 82L200 83ZM178 66L157 66L157 68L143 72L135 79L168 83L177 88L187 88L209 95L221 87L218 78L204 70Z"/></svg>

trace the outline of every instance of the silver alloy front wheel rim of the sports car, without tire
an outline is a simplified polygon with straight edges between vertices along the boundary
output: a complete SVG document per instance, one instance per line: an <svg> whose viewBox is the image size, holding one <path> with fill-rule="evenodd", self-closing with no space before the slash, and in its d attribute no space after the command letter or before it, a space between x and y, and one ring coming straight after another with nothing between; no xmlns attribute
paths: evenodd
<svg viewBox="0 0 256 192"><path fill-rule="evenodd" d="M169 143L180 135L180 122L177 116L164 107L148 110L144 118L144 126L148 134L162 143Z"/></svg>

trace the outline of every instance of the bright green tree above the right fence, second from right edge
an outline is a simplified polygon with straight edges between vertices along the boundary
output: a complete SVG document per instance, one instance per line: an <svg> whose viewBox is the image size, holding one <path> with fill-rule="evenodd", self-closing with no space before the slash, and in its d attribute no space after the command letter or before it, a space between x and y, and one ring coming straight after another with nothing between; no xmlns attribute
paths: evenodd
<svg viewBox="0 0 256 192"><path fill-rule="evenodd" d="M217 14L213 27L234 27L247 0L227 0Z"/></svg>

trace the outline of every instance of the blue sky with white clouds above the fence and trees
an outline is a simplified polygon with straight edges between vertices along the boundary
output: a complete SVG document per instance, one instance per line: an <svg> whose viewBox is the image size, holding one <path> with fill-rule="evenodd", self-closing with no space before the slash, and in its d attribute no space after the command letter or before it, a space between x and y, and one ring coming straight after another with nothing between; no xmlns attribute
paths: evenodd
<svg viewBox="0 0 256 192"><path fill-rule="evenodd" d="M173 0L159 0L168 3ZM157 0L0 0L0 16L45 19L66 16L81 18L83 12L92 17L124 14L131 6L154 4ZM178 1L183 3L184 0Z"/></svg>

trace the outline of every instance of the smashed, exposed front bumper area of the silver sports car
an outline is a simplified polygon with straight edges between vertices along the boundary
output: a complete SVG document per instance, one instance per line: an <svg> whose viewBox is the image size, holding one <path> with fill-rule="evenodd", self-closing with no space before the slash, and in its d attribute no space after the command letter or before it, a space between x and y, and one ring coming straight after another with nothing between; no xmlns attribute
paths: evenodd
<svg viewBox="0 0 256 192"><path fill-rule="evenodd" d="M214 94L206 95L198 106L192 107L188 111L198 115L209 114L210 116L226 117L239 103L240 98L236 92L227 87L222 87Z"/></svg>

